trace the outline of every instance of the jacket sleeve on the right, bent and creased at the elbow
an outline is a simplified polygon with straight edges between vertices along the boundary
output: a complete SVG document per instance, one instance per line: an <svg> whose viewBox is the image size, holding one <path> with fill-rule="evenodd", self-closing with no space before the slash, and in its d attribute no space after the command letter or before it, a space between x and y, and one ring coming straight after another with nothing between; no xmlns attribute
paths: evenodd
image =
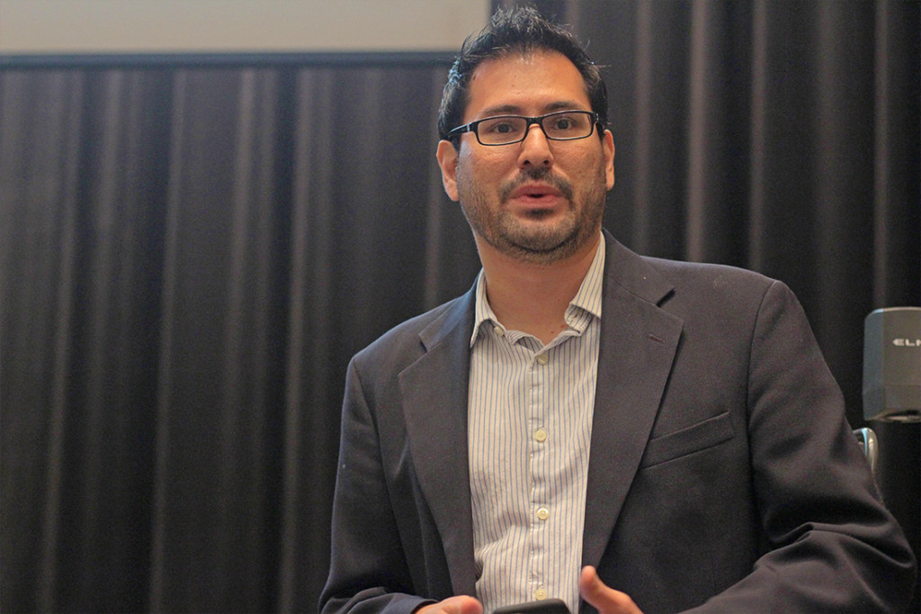
<svg viewBox="0 0 921 614"><path fill-rule="evenodd" d="M787 287L765 293L751 341L748 430L766 553L695 612L888 611L915 561L845 419L844 400Z"/></svg>

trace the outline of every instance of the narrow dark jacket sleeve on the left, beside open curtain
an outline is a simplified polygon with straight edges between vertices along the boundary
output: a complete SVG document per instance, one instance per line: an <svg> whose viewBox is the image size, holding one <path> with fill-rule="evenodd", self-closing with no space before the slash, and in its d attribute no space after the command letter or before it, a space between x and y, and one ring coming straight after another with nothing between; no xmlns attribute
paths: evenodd
<svg viewBox="0 0 921 614"><path fill-rule="evenodd" d="M321 612L408 613L423 603L422 597L401 592L412 582L389 501L378 428L352 360L332 503L332 561Z"/></svg>

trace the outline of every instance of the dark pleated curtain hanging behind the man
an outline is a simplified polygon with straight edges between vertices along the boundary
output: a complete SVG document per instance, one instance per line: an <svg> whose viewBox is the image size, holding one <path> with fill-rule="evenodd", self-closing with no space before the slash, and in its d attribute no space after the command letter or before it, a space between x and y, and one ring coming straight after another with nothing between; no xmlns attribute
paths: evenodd
<svg viewBox="0 0 921 614"><path fill-rule="evenodd" d="M918 4L534 4L608 66L608 228L787 282L857 426L921 304ZM448 60L2 60L0 609L316 609L347 361L478 270Z"/></svg>

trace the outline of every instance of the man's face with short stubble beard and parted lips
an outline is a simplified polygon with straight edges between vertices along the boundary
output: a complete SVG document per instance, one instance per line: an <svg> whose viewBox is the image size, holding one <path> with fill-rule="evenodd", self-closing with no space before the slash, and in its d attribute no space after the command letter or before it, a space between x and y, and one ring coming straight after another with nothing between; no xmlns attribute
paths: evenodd
<svg viewBox="0 0 921 614"><path fill-rule="evenodd" d="M473 72L463 123L495 115L591 111L585 83L565 55L539 51L487 60ZM597 127L596 127L597 129ZM533 124L520 143L438 143L445 191L460 200L481 255L553 264L594 246L614 183L610 132L551 141Z"/></svg>

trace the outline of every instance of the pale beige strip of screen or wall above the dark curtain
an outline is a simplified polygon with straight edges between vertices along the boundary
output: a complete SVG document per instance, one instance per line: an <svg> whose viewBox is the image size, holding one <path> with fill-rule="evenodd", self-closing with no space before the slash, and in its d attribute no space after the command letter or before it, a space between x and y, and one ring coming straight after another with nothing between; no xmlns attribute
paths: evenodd
<svg viewBox="0 0 921 614"><path fill-rule="evenodd" d="M0 53L457 51L489 0L0 0Z"/></svg>

